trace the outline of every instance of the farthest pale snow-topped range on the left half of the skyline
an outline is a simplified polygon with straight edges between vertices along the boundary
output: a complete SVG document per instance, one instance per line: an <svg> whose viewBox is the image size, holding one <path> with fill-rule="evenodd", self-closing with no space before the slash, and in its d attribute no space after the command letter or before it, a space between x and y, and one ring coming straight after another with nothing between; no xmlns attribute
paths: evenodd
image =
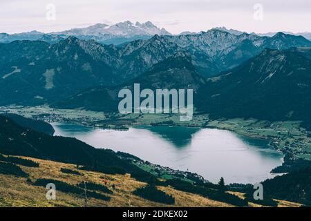
<svg viewBox="0 0 311 221"><path fill-rule="evenodd" d="M138 39L150 39L153 35L171 35L171 33L164 28L158 28L151 21L145 23L124 21L112 26L106 23L97 23L86 28L73 28L62 32L44 33L33 30L12 35L0 33L0 43L10 43L17 40L40 40L55 44L66 37L75 36L84 40L93 39L102 44L123 44Z"/></svg>

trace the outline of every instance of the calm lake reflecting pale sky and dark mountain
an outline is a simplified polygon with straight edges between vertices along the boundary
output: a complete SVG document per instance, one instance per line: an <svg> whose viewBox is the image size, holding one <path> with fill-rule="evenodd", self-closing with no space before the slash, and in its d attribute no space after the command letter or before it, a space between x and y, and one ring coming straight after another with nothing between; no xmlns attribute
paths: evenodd
<svg viewBox="0 0 311 221"><path fill-rule="evenodd" d="M76 137L96 148L131 153L161 166L198 173L211 182L256 183L283 162L265 140L230 131L182 126L137 126L129 131L54 123L55 135Z"/></svg>

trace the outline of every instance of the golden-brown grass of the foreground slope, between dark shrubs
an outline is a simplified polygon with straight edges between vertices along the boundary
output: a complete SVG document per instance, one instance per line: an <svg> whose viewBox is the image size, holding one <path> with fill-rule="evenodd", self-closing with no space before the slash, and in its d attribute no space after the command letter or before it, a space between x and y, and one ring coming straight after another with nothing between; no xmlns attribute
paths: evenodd
<svg viewBox="0 0 311 221"><path fill-rule="evenodd" d="M95 200L91 198L88 201L88 206L169 206L144 200L138 196L133 195L133 191L144 185L143 182L138 182L132 179L129 175L105 175L102 173L95 173L90 171L79 171L83 175L70 175L62 173L61 168L76 170L73 164L63 164L48 160L38 160L30 157L23 157L26 159L39 162L39 168L30 168L21 166L23 171L30 175L32 181L38 178L50 178L61 180L70 184L78 184L79 182L95 182L102 184L102 180L109 180L108 187L115 184L113 194L109 195L111 200L109 202L102 200ZM161 191L173 195L176 203L173 206L231 206L223 202L217 202L202 198L199 195L177 191L169 186L158 186ZM44 187L33 186L26 181L26 178L15 177L12 175L0 175L0 206L83 206L84 198L79 195L62 193L57 191L57 200L46 200L46 191ZM237 195L239 193L236 193ZM243 198L243 195L241 195ZM258 206L256 204L249 204L250 206ZM290 202L280 202L279 206L299 206Z"/></svg>

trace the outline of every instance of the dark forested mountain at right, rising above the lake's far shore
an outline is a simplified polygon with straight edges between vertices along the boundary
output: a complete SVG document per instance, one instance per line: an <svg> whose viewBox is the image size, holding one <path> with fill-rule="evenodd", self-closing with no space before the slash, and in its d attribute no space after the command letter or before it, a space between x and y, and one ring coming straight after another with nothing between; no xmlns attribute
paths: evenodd
<svg viewBox="0 0 311 221"><path fill-rule="evenodd" d="M305 120L311 110L311 48L266 49L208 79L198 109L212 117Z"/></svg>

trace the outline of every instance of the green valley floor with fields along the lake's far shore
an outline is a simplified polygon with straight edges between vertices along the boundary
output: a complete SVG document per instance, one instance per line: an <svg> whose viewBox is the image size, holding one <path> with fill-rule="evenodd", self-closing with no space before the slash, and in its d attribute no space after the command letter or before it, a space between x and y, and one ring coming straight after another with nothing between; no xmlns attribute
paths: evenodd
<svg viewBox="0 0 311 221"><path fill-rule="evenodd" d="M293 159L301 159L303 160L303 164L310 164L308 162L310 162L311 155L311 137L309 136L309 132L301 127L301 122L299 121L269 122L252 118L209 119L209 115L196 114L190 122L180 122L178 115L139 115L134 113L128 115L113 115L111 113L95 111L49 108L48 106L4 106L0 108L0 113L6 112L32 117L34 119L41 119L46 122L75 123L83 126L91 126L91 128L122 131L127 131L133 126L185 126L198 129L217 128L220 130L232 131L243 137L265 140L270 148L281 151L283 154L290 155ZM126 148L126 146L124 146L124 148ZM142 159L146 160L144 157L142 157ZM285 164L287 161L288 158L285 157ZM148 167L148 165L146 166ZM144 169L146 169L146 167L144 167ZM281 173L283 172L287 171L281 171Z"/></svg>

